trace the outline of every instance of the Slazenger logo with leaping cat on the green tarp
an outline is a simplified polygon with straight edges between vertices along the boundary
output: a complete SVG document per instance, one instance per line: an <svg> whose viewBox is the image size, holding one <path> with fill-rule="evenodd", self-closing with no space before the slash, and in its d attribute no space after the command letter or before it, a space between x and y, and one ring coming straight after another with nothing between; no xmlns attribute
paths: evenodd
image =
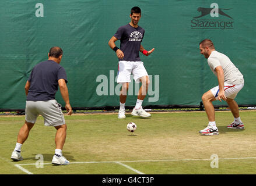
<svg viewBox="0 0 256 186"><path fill-rule="evenodd" d="M219 8L218 3L212 3L210 8L199 7L197 10L198 12L201 12L201 15L193 17L194 19L191 20L191 28L234 29L233 18L230 15L227 15L227 13L225 13L226 10L230 10L230 9L232 8L228 8L228 9ZM198 19L206 15L210 15L212 19ZM224 17L224 19L216 19L215 17L220 17L220 18ZM226 17L228 17L228 19Z"/></svg>

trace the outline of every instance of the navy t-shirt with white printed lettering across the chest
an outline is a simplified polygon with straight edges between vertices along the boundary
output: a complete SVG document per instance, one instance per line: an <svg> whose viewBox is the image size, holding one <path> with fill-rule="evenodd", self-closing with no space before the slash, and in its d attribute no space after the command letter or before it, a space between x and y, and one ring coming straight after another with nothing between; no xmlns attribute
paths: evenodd
<svg viewBox="0 0 256 186"><path fill-rule="evenodd" d="M120 49L124 52L125 61L141 61L139 48L144 37L145 30L142 27L134 28L129 23L118 28L114 37L120 40Z"/></svg>

